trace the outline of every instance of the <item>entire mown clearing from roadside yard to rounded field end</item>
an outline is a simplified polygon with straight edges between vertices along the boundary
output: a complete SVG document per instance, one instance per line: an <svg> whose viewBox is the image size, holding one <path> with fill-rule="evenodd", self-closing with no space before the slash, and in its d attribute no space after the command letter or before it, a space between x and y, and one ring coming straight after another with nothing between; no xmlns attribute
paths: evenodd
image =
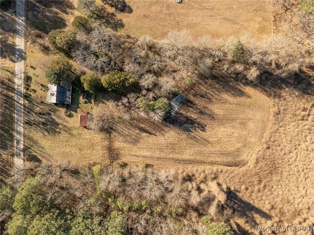
<svg viewBox="0 0 314 235"><path fill-rule="evenodd" d="M142 117L133 124L116 120L115 131L107 138L78 127L80 109L92 112L93 104L69 108L72 115L66 117L66 107L46 102L44 70L53 56L30 44L27 54L31 78L26 92L26 120L31 123L25 125L29 160L242 166L259 146L271 116L271 100L259 91L238 83L224 87L217 81L200 80L184 94L188 102L182 105L178 120L156 123Z"/></svg>

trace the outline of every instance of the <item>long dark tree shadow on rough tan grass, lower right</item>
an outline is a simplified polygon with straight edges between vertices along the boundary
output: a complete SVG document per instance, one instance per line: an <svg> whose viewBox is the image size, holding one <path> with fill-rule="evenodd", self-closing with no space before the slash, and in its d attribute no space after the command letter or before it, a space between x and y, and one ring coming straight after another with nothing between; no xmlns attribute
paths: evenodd
<svg viewBox="0 0 314 235"><path fill-rule="evenodd" d="M262 209L259 209L251 203L244 201L240 198L235 191L231 191L227 188L227 201L224 205L228 210L231 210L232 217L245 218L246 222L250 224L252 228L258 225L254 215L258 215L266 220L270 220L272 217Z"/></svg>

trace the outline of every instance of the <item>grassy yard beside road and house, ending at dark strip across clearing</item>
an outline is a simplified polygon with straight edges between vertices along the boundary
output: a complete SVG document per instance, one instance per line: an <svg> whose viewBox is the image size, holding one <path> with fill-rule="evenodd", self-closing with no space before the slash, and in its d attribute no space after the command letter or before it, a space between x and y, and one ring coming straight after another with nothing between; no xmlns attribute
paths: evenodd
<svg viewBox="0 0 314 235"><path fill-rule="evenodd" d="M68 107L47 103L45 69L55 55L44 54L38 47L27 44L26 72L28 87L25 92L25 144L30 161L77 164L103 159L104 135L78 127L80 108L89 111L92 104Z"/></svg>

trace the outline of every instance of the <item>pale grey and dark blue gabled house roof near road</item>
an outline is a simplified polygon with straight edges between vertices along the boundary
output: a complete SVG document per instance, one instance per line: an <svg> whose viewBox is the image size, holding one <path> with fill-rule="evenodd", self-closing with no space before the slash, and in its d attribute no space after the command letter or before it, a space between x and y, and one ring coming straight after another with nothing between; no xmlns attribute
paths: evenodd
<svg viewBox="0 0 314 235"><path fill-rule="evenodd" d="M47 102L55 104L71 104L72 86L48 84Z"/></svg>

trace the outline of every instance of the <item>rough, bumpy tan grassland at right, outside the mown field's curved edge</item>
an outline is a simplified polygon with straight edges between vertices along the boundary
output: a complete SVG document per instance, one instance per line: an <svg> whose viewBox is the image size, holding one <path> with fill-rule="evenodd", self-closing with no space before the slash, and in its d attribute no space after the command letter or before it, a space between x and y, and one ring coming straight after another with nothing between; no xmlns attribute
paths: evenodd
<svg viewBox="0 0 314 235"><path fill-rule="evenodd" d="M258 234L255 226L313 226L313 97L285 91L274 99L274 115L257 153L242 168L210 166L194 170L230 186L234 224ZM185 170L192 171L192 168ZM197 173L198 172L198 173ZM313 232L279 234L312 235Z"/></svg>

